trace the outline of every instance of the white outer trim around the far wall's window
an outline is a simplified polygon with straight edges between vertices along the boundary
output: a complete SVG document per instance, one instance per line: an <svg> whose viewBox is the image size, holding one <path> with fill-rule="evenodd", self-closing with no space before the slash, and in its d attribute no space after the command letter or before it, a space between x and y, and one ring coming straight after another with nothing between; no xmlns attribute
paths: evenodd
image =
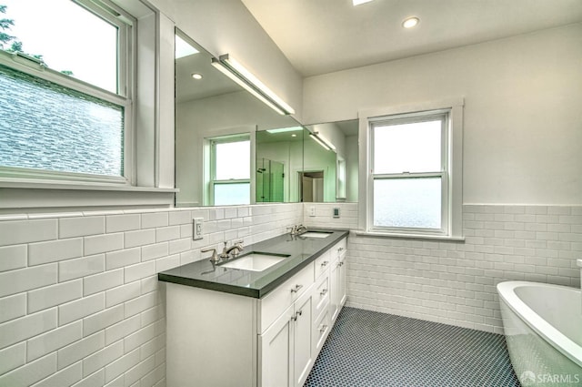
<svg viewBox="0 0 582 387"><path fill-rule="evenodd" d="M411 238L411 239L463 239L463 107L464 98L450 98L436 101L427 101L396 107L380 107L361 110L359 119L359 206L358 206L358 235ZM371 227L371 135L370 121L376 117L415 114L423 111L450 110L448 132L448 209L443 214L447 221L447 229L442 233L424 232L424 230L379 231ZM446 219L445 220L445 216Z"/></svg>

